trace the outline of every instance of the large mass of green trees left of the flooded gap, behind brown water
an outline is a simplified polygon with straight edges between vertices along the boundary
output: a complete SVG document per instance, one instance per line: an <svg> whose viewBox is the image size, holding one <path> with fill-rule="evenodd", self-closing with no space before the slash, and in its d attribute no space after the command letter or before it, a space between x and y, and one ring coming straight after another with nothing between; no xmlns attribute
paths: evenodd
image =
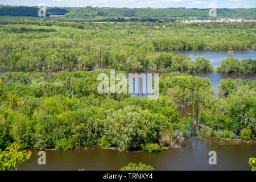
<svg viewBox="0 0 256 182"><path fill-rule="evenodd" d="M102 72L110 74L106 69L2 73L1 148L21 139L23 148L69 150L98 143L134 150L147 143L172 146L177 135L189 135L190 121L180 123L177 106L167 96L99 94Z"/></svg>

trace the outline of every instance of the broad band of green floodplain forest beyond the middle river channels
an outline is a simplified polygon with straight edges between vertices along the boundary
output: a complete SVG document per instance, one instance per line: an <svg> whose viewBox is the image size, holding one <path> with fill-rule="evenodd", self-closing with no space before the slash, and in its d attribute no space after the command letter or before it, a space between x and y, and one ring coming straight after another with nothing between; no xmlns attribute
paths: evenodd
<svg viewBox="0 0 256 182"><path fill-rule="evenodd" d="M0 22L2 20L13 22L9 18ZM224 23L222 26L220 23L170 23L166 27L155 27L149 22L130 22L115 27L112 23L76 24L50 19L35 20L38 26L26 26L30 20L16 20L25 25L0 27L1 69L91 70L97 65L133 71L149 68L154 71L200 72L213 70L209 60L204 57L191 60L168 51L255 48L254 22ZM220 68L224 67L222 64ZM233 71L232 66L232 71L223 72L255 72L255 61L243 60L239 69Z"/></svg>

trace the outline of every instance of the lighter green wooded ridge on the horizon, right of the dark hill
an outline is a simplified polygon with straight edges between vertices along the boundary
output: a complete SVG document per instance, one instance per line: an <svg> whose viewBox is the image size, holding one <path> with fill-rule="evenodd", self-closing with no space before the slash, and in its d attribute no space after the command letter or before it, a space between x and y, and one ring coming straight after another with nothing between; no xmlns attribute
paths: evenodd
<svg viewBox="0 0 256 182"><path fill-rule="evenodd" d="M186 9L180 8L166 8L166 9L153 9L153 8L111 8L111 7L76 7L69 8L69 13L65 16L135 16L135 17L209 17L210 9ZM243 17L255 18L255 8L251 9L217 9L218 18L227 17Z"/></svg>

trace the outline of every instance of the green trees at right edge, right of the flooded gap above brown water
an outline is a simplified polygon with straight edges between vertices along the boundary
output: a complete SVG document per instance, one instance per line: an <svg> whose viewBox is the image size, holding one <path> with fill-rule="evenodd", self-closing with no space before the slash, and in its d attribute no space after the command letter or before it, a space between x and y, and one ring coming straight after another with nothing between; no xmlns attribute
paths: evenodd
<svg viewBox="0 0 256 182"><path fill-rule="evenodd" d="M255 81L231 78L221 80L218 98L207 99L199 120L213 130L227 130L223 131L225 133L233 131L241 134L242 139L249 139L256 134L255 94ZM228 136L224 138L229 138L229 134L223 135Z"/></svg>

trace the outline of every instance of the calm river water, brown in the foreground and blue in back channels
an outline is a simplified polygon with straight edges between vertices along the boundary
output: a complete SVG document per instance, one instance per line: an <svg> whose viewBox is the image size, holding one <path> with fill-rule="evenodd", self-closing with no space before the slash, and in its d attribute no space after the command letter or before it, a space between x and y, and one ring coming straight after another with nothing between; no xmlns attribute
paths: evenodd
<svg viewBox="0 0 256 182"><path fill-rule="evenodd" d="M228 56L226 51L179 51L196 59L204 56L216 68L222 59ZM245 58L256 59L254 50L234 52L234 58L241 60ZM192 73L199 77L208 77L217 92L217 85L221 79L241 78L242 80L256 80L255 74L227 74L218 72ZM180 117L189 116L190 108L179 109ZM31 149L32 155L27 163L18 164L18 170L119 170L128 163L139 163L151 165L155 170L250 170L248 160L256 157L256 145L250 143L230 144L220 140L200 139L194 135L185 139L180 148L150 153L144 151L119 152L116 150L104 150L96 146L87 147L87 150L77 149L72 151L46 150L46 165L38 164L38 150ZM208 163L209 151L217 152L217 165Z"/></svg>

